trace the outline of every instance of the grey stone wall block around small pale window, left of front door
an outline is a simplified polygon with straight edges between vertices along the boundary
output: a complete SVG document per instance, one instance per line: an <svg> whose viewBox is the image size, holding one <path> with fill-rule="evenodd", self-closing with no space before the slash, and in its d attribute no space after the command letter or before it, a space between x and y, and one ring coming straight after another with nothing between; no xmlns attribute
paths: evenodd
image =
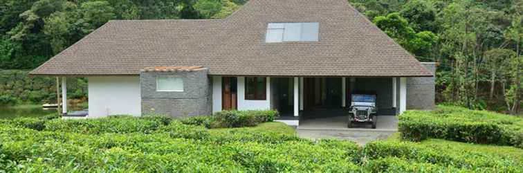
<svg viewBox="0 0 523 173"><path fill-rule="evenodd" d="M183 80L183 92L156 91L156 77L175 76ZM164 114L181 118L212 113L212 81L208 70L140 73L142 115Z"/></svg>

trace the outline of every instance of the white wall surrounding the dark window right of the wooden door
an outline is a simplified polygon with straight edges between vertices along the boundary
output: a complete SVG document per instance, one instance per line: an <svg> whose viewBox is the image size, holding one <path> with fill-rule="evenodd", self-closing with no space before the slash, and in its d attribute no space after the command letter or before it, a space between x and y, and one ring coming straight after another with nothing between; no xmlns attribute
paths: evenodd
<svg viewBox="0 0 523 173"><path fill-rule="evenodd" d="M268 110L270 109L270 78L267 78L266 100L245 100L245 77L238 77L238 110ZM213 103L214 104L214 103Z"/></svg>

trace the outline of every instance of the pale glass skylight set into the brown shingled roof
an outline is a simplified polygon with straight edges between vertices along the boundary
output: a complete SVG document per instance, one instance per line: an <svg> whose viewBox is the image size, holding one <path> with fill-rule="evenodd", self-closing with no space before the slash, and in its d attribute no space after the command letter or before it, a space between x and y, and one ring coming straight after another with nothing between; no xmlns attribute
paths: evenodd
<svg viewBox="0 0 523 173"><path fill-rule="evenodd" d="M270 23L265 42L318 42L319 28L318 22Z"/></svg>

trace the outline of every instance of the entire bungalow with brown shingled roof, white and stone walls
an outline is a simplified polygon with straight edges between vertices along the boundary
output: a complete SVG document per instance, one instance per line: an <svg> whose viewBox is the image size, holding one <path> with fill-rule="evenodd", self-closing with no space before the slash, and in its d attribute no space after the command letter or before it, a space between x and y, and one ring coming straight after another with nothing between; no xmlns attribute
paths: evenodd
<svg viewBox="0 0 523 173"><path fill-rule="evenodd" d="M226 19L109 21L30 74L63 77L64 95L65 78L88 78L87 118L298 117L347 107L353 91L377 93L383 115L432 109L434 69L346 0L250 0Z"/></svg>

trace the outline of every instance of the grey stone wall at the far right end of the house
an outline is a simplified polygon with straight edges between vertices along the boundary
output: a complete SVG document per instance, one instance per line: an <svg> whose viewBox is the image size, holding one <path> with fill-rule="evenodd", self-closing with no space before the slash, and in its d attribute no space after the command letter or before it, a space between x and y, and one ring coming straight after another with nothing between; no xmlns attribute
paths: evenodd
<svg viewBox="0 0 523 173"><path fill-rule="evenodd" d="M436 74L436 63L422 62L432 74ZM436 78L407 78L407 109L434 109Z"/></svg>

